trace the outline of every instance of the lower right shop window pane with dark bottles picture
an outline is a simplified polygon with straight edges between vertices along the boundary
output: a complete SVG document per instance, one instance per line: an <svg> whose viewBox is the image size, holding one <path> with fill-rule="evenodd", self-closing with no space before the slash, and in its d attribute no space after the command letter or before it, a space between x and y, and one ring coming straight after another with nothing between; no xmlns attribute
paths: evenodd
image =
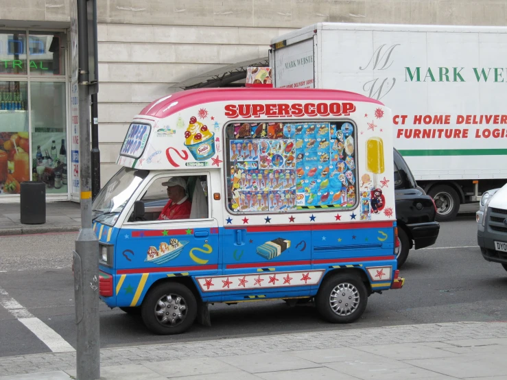
<svg viewBox="0 0 507 380"><path fill-rule="evenodd" d="M46 193L67 193L65 82L32 82L32 164Z"/></svg>

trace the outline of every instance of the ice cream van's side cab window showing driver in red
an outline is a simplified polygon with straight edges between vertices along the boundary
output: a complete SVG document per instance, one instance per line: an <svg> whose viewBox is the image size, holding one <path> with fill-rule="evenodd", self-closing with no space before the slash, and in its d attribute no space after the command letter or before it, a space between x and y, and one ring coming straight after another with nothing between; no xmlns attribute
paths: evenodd
<svg viewBox="0 0 507 380"><path fill-rule="evenodd" d="M207 219L207 176L164 176L154 180L141 197L142 221ZM133 222L133 215L130 222ZM137 220L139 222L139 220Z"/></svg>

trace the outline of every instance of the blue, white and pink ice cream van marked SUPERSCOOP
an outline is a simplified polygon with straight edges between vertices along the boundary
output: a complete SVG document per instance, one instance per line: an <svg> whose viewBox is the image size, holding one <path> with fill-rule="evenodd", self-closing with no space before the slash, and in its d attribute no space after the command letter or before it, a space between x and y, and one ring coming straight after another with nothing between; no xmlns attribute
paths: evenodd
<svg viewBox="0 0 507 380"><path fill-rule="evenodd" d="M93 202L99 292L150 331L209 304L313 300L357 320L399 289L391 111L335 90L183 91L146 106Z"/></svg>

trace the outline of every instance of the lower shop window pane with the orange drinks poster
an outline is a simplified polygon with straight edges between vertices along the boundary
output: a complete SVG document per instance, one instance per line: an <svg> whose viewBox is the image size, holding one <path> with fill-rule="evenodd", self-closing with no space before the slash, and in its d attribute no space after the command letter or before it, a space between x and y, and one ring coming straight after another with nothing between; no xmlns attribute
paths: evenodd
<svg viewBox="0 0 507 380"><path fill-rule="evenodd" d="M0 82L0 193L19 194L30 180L27 82Z"/></svg>

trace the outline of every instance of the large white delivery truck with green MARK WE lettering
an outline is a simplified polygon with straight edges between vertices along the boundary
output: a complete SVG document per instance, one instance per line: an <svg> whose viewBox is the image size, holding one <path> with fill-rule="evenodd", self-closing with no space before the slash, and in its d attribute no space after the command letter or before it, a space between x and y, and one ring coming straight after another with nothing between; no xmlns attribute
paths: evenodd
<svg viewBox="0 0 507 380"><path fill-rule="evenodd" d="M507 182L506 62L507 27L318 23L270 49L275 87L339 88L392 109L394 147L440 221ZM381 117L364 115L372 130Z"/></svg>

